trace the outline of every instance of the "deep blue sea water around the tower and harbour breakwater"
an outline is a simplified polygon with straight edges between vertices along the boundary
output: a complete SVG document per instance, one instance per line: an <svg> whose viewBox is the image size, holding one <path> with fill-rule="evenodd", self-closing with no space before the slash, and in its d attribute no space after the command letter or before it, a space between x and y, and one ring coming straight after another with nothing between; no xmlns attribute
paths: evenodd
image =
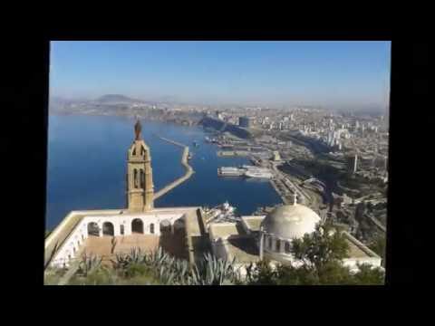
<svg viewBox="0 0 435 326"><path fill-rule="evenodd" d="M239 215L281 203L268 180L218 177L218 168L249 164L247 158L221 158L207 143L200 126L141 120L142 138L150 147L154 191L181 177L182 150L158 137L189 146L195 173L157 199L156 207L217 206L225 201ZM134 120L126 117L50 115L48 129L46 229L52 230L70 211L126 206L127 149L134 139ZM198 142L198 147L193 142Z"/></svg>

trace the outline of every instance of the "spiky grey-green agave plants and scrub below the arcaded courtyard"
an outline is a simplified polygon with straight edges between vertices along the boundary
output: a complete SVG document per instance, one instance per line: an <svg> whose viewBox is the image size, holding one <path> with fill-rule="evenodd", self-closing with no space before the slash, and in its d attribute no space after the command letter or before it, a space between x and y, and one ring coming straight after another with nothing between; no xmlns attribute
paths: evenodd
<svg viewBox="0 0 435 326"><path fill-rule="evenodd" d="M150 254L132 249L130 254L117 254L112 266L102 264L96 256L83 257L69 285L226 285L240 282L234 262L205 254L201 264L190 265L164 253L160 248ZM72 267L73 268L73 267ZM58 275L54 277L54 275ZM49 270L46 284L58 284L63 274Z"/></svg>

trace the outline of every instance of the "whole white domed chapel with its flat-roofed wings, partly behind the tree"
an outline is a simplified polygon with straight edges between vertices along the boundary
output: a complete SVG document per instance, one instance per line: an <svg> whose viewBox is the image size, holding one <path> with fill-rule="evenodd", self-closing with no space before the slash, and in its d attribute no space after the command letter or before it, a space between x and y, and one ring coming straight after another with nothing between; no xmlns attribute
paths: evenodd
<svg viewBox="0 0 435 326"><path fill-rule="evenodd" d="M241 216L236 223L210 223L208 236L213 254L233 260L240 267L266 259L272 264L298 264L291 253L292 242L312 234L322 218L313 209L298 204L276 206L266 216ZM343 264L356 271L358 264L381 266L382 258L353 235L343 231L349 245ZM242 273L246 271L242 268Z"/></svg>

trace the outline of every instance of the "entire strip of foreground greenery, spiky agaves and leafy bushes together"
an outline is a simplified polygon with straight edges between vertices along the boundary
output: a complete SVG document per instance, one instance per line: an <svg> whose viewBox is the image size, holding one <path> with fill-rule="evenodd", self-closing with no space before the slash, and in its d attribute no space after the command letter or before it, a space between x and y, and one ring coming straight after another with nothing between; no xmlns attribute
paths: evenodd
<svg viewBox="0 0 435 326"><path fill-rule="evenodd" d="M70 285L328 285L383 284L382 269L361 265L357 273L343 265L348 245L341 232L332 225L317 225L311 235L293 241L292 253L299 264L270 264L261 261L247 267L242 278L234 261L205 254L199 264L189 264L164 253L160 248L150 254L132 249L130 254L117 254L110 265L95 256L85 256L72 269L73 276L64 282L63 270L48 269L46 284Z"/></svg>

